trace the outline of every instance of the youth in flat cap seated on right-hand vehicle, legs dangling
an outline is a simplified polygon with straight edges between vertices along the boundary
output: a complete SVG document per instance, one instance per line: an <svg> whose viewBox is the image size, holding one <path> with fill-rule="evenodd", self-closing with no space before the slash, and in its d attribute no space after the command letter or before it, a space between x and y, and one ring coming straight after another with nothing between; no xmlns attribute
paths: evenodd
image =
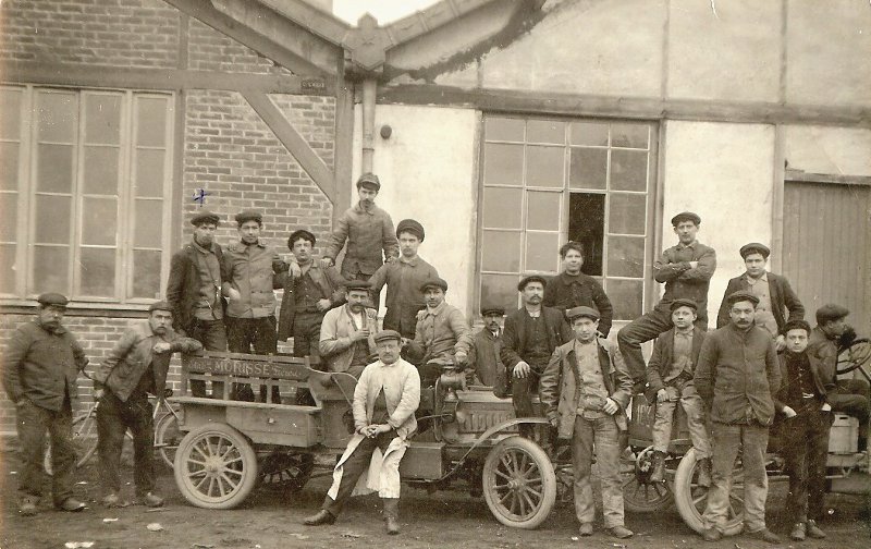
<svg viewBox="0 0 871 549"><path fill-rule="evenodd" d="M696 321L698 305L691 300L672 302L674 328L661 333L647 365L647 400L655 403L653 413L652 483L665 481L665 457L672 438L672 422L677 404L687 415L687 427L699 460L700 486L711 485L711 442L704 420L704 406L692 377L706 332Z"/></svg>

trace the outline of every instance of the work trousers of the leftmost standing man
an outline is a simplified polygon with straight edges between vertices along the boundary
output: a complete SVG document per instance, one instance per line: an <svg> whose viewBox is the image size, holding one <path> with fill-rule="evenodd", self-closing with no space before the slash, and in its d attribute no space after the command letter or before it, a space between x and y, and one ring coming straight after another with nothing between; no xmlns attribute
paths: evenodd
<svg viewBox="0 0 871 549"><path fill-rule="evenodd" d="M54 504L73 496L75 447L73 446L73 411L69 396L58 412L37 406L26 396L15 404L22 471L19 495L30 501L42 495L42 459L46 432L51 441L51 495Z"/></svg>

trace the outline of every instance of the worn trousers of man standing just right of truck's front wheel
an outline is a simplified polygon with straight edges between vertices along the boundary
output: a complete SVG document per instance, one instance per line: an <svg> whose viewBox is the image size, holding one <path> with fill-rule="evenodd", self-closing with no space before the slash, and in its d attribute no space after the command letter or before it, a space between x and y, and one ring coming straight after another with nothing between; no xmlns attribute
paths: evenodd
<svg viewBox="0 0 871 549"><path fill-rule="evenodd" d="M572 432L572 466L575 472L575 513L580 524L591 523L596 516L592 500L593 448L596 467L602 484L602 514L605 528L623 526L623 484L619 478L619 427L614 416L585 419L575 416Z"/></svg>

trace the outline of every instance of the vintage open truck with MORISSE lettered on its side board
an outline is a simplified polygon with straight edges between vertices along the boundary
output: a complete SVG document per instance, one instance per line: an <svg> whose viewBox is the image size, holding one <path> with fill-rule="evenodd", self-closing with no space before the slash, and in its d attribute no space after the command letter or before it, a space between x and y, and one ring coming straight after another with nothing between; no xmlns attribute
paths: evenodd
<svg viewBox="0 0 871 549"><path fill-rule="evenodd" d="M310 366L307 358L208 352L183 361L182 392L172 398L184 432L174 469L188 502L230 509L258 483L298 490L312 476L331 474L353 430L356 379ZM191 379L223 381L223 398L192 396ZM316 404L273 403L271 390L265 403L234 401L231 383L277 385L283 395L308 389ZM449 371L421 391L418 422L402 461L404 483L482 493L493 516L508 526L535 528L547 518L557 495L554 467L536 441L517 435L518 424L543 430L545 419L516 419L511 399L491 388L466 388L462 375Z"/></svg>

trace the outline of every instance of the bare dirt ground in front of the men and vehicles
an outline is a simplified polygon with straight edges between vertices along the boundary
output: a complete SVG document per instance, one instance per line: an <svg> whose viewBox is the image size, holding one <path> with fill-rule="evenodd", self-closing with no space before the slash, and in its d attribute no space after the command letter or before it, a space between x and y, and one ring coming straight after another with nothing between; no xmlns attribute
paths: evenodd
<svg viewBox="0 0 871 549"><path fill-rule="evenodd" d="M626 514L626 525L636 536L625 541L597 530L591 538L573 540L577 526L571 503L559 501L548 521L537 530L518 530L502 526L487 509L483 498L467 492L442 491L428 495L426 490L403 488L400 536L388 537L378 514L376 496L356 498L332 526L307 527L305 516L317 511L329 487L329 477L312 479L293 498L278 490L260 489L241 507L231 511L209 511L189 505L175 489L172 473L158 464L158 490L167 498L164 508L152 511L131 505L103 509L96 500L99 492L99 468L96 462L78 469L76 493L88 503L82 513L63 513L42 509L35 517L22 517L15 501L17 459L14 453L0 454L2 469L2 514L0 514L0 548L44 549L63 548L68 541L93 541L94 549L206 549L244 548L370 548L385 547L463 547L463 548L692 548L753 549L771 547L743 536L704 544L687 528L674 508L655 514ZM133 472L125 471L132 481ZM48 485L46 486L48 489ZM49 493L48 491L46 493ZM122 496L133 497L133 486ZM786 534L784 522L785 489L773 485L769 497L769 526ZM50 498L48 498L50 502ZM830 495L826 504L832 509L822 523L829 538L822 541L783 544L800 548L862 548L871 547L871 526L864 498ZM116 518L116 521L106 521ZM597 527L601 527L601 516ZM149 523L159 523L160 532L150 532ZM785 537L785 536L784 536Z"/></svg>

